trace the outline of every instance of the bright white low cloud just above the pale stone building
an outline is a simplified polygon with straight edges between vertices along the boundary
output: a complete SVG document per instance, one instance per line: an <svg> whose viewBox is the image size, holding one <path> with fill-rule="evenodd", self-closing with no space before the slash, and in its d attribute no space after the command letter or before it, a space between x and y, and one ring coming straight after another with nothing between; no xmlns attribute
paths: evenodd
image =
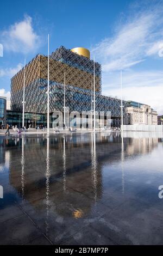
<svg viewBox="0 0 163 256"><path fill-rule="evenodd" d="M124 100L145 103L151 105L159 114L163 113L163 71L122 72L122 85ZM120 72L105 74L103 94L121 97Z"/></svg>

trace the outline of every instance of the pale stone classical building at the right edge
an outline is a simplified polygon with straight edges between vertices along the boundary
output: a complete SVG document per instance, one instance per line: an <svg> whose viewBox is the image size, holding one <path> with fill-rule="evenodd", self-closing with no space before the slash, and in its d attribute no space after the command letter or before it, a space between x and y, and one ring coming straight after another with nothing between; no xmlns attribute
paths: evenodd
<svg viewBox="0 0 163 256"><path fill-rule="evenodd" d="M126 124L158 124L158 114L149 105L135 101L127 101L127 113Z"/></svg>

